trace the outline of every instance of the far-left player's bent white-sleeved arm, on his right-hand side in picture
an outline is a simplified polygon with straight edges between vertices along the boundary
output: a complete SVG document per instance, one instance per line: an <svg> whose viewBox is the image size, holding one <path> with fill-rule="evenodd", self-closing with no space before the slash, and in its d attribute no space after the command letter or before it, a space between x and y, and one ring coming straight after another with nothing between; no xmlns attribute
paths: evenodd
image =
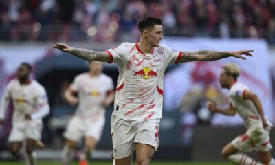
<svg viewBox="0 0 275 165"><path fill-rule="evenodd" d="M50 106L47 101L47 94L45 92L45 89L41 91L41 94L39 94L36 99L37 99L37 102L36 102L37 111L35 113L32 113L32 115L30 115L30 119L32 120L44 118L46 115L50 113Z"/></svg>

